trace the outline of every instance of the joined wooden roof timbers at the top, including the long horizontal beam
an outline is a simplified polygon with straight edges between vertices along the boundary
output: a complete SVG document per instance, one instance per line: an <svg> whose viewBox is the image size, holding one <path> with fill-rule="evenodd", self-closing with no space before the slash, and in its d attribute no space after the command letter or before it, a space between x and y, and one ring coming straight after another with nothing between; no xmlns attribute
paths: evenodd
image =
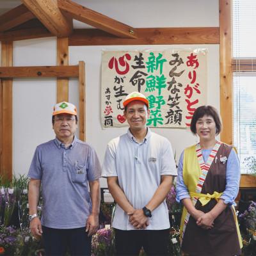
<svg viewBox="0 0 256 256"><path fill-rule="evenodd" d="M71 0L20 0L0 15L0 41L47 36L68 45L219 44L218 27L132 28ZM74 29L73 20L90 29Z"/></svg>

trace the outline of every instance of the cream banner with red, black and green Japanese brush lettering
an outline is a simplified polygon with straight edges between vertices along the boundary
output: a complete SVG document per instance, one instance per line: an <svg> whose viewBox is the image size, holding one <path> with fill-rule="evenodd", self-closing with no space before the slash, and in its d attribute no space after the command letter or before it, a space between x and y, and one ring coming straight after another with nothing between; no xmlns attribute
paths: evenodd
<svg viewBox="0 0 256 256"><path fill-rule="evenodd" d="M103 51L102 127L124 127L125 97L143 93L149 127L186 128L207 99L207 51Z"/></svg>

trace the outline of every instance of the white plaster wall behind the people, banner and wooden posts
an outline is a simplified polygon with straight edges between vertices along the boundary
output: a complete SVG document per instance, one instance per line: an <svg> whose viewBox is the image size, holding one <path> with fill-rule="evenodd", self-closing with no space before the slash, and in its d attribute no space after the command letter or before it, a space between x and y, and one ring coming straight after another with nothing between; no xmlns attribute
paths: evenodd
<svg viewBox="0 0 256 256"><path fill-rule="evenodd" d="M88 8L136 28L219 26L218 0L120 1L77 0ZM77 24L77 23L76 23ZM13 65L56 65L56 38L15 42ZM86 138L97 150L102 163L106 144L126 129L100 126L100 61L102 49L188 49L207 48L207 103L220 109L218 45L132 45L69 47L69 63L86 63ZM78 82L70 79L70 102L78 107ZM55 79L15 79L13 82L13 172L27 173L36 145L54 137L51 127L52 106L56 102ZM177 159L184 147L196 138L184 129L154 129L171 142ZM103 185L105 182L103 181Z"/></svg>

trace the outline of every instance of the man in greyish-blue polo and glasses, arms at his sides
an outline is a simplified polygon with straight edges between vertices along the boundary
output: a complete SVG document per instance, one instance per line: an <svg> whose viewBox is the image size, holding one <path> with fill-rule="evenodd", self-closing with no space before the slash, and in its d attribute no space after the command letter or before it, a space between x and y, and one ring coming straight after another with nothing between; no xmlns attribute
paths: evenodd
<svg viewBox="0 0 256 256"><path fill-rule="evenodd" d="M95 150L75 136L76 106L54 106L54 140L36 147L29 168L29 220L33 236L43 236L46 255L91 255L99 225L101 168ZM42 219L36 207L42 186ZM90 192L89 192L89 188Z"/></svg>

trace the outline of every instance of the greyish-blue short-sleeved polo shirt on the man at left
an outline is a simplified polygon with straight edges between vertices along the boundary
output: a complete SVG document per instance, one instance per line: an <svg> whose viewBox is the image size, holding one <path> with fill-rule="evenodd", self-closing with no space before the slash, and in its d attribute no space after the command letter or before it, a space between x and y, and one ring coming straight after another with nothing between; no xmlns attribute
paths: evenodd
<svg viewBox="0 0 256 256"><path fill-rule="evenodd" d="M95 150L76 136L68 148L58 139L36 147L28 177L41 180L42 225L85 227L92 211L88 181L99 179L100 175Z"/></svg>

